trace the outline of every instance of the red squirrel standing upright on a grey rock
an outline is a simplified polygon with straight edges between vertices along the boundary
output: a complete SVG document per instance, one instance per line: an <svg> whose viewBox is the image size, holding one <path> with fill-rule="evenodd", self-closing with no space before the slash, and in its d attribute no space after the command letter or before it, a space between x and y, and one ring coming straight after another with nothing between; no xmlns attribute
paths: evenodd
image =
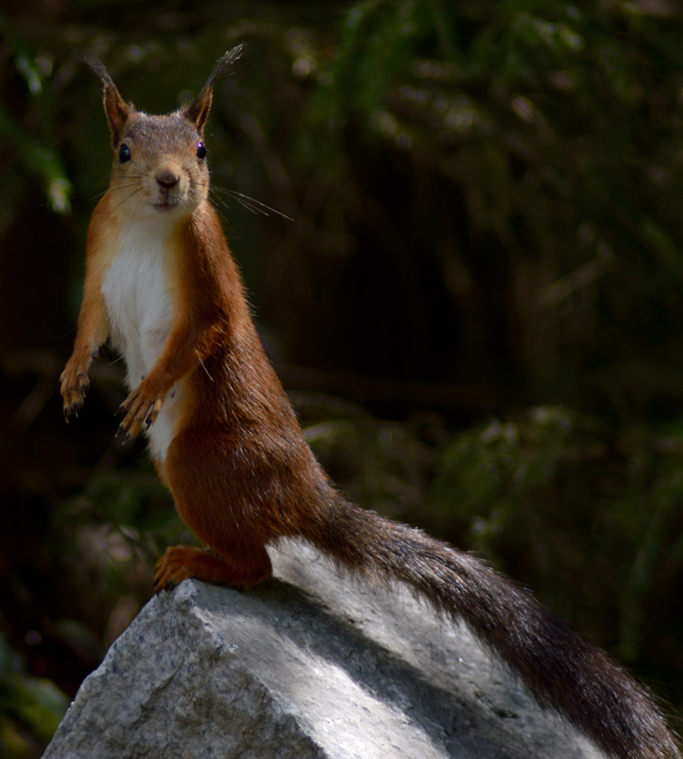
<svg viewBox="0 0 683 759"><path fill-rule="evenodd" d="M346 501L313 456L251 320L209 202L204 126L216 63L184 108L149 116L100 77L114 162L92 213L64 416L78 413L109 338L129 394L119 432L145 432L180 517L210 550L166 549L157 592L188 577L248 588L271 574L266 546L299 537L368 580L403 583L464 620L551 707L620 759L678 757L654 698L602 650L472 555Z"/></svg>

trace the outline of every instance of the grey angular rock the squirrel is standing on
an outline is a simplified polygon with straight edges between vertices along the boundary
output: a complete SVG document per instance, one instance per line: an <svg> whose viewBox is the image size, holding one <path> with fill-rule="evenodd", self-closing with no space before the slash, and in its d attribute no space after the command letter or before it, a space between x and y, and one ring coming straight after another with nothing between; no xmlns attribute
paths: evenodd
<svg viewBox="0 0 683 759"><path fill-rule="evenodd" d="M43 759L598 759L462 625L298 543L249 593L187 580L139 613Z"/></svg>

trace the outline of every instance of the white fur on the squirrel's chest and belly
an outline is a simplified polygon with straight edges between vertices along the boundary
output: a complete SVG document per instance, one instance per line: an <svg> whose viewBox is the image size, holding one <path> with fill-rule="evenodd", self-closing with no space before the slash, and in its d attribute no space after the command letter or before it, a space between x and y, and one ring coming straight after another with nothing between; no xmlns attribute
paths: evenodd
<svg viewBox="0 0 683 759"><path fill-rule="evenodd" d="M124 357L126 383L133 390L157 361L173 320L168 281L168 242L172 228L166 220L128 223L119 237L119 250L102 283L111 342ZM161 413L147 432L152 454L164 460L175 436L182 387L166 394Z"/></svg>

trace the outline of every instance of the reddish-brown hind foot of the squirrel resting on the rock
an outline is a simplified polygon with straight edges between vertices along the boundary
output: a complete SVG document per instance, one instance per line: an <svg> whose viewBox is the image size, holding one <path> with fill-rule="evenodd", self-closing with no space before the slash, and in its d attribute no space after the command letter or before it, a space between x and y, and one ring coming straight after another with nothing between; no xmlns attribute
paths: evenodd
<svg viewBox="0 0 683 759"><path fill-rule="evenodd" d="M241 556L239 563L232 563L229 559L194 546L166 548L166 553L157 561L155 568L155 589L157 593L170 591L188 578L246 589L270 577L272 565L265 547L259 546L259 549L250 552L251 561L245 558Z"/></svg>

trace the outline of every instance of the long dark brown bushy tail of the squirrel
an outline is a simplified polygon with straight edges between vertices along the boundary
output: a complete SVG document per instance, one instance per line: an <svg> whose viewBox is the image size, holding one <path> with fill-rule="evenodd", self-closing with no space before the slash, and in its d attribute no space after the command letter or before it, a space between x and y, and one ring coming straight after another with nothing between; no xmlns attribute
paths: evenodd
<svg viewBox="0 0 683 759"><path fill-rule="evenodd" d="M544 707L619 759L680 759L648 690L525 590L479 559L352 506L327 504L302 530L338 565L399 581L470 629Z"/></svg>

